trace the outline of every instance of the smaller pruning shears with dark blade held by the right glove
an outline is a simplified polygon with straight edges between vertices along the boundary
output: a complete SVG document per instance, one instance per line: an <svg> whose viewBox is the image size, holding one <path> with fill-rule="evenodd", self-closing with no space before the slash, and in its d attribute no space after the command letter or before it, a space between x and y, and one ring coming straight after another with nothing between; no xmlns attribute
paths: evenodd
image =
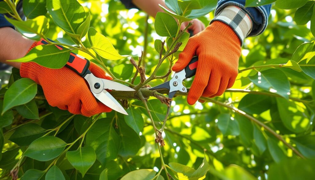
<svg viewBox="0 0 315 180"><path fill-rule="evenodd" d="M169 98L173 98L177 91L187 92L187 88L183 85L183 81L187 78L191 78L196 74L196 69L198 65L198 56L192 58L188 65L181 71L175 72L173 78L163 84L159 84L155 87L150 88L150 90L156 89L168 89Z"/></svg>

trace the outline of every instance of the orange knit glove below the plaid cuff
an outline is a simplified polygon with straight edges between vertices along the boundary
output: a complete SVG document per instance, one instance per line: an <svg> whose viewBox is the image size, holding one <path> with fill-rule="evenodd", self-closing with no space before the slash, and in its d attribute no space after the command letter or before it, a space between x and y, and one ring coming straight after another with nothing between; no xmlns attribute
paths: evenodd
<svg viewBox="0 0 315 180"><path fill-rule="evenodd" d="M230 26L214 21L189 38L172 70L184 69L195 55L198 55L198 66L187 96L190 105L195 104L200 96L221 96L232 87L238 75L241 42Z"/></svg>

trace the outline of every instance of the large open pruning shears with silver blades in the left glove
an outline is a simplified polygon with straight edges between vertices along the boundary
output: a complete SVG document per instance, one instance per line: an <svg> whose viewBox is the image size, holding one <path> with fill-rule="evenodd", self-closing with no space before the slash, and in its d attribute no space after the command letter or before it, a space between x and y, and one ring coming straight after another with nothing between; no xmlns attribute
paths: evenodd
<svg viewBox="0 0 315 180"><path fill-rule="evenodd" d="M51 41L51 40L50 40ZM53 41L52 41L53 42ZM48 44L45 40L41 40L37 45ZM64 47L56 45L58 49L62 50ZM97 78L89 70L90 61L80 55L70 52L70 57L66 63L66 67L72 69L75 73L84 78L90 87L92 94L100 102L113 110L128 115L125 109L119 104L119 102L106 90L120 90L120 91L135 91L134 89L103 78Z"/></svg>

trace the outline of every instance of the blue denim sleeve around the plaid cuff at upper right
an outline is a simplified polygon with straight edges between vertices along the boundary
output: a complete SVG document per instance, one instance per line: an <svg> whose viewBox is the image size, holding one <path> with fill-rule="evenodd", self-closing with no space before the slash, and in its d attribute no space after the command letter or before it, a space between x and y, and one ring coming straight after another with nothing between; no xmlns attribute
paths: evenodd
<svg viewBox="0 0 315 180"><path fill-rule="evenodd" d="M249 36L257 36L265 31L268 24L268 16L270 15L271 4L245 8L245 0L218 0L215 14L229 5L238 6L244 9L250 15L253 21L253 28Z"/></svg>

